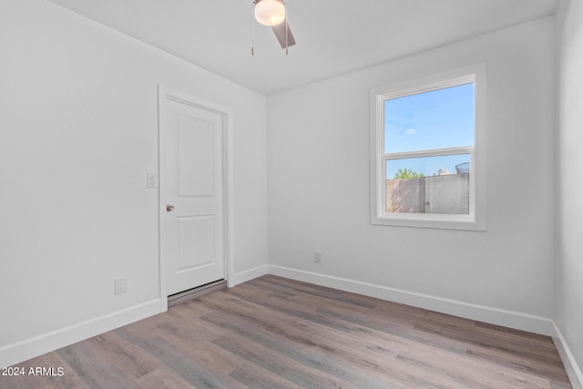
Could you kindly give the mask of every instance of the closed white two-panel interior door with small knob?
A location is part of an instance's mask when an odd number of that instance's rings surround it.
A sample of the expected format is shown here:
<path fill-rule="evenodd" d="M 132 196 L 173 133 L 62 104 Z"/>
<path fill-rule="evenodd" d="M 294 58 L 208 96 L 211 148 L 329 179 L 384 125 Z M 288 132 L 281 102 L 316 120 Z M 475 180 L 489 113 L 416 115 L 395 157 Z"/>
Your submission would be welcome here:
<path fill-rule="evenodd" d="M 160 236 L 166 294 L 224 278 L 223 118 L 160 99 Z"/>

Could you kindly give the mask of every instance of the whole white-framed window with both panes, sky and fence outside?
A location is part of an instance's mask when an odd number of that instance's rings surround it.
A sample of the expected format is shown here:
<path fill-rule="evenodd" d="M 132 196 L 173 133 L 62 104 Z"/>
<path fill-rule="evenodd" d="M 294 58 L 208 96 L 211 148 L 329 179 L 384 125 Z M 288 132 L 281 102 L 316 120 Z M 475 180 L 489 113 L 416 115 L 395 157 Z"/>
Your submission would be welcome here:
<path fill-rule="evenodd" d="M 478 65 L 371 91 L 373 224 L 486 230 Z"/>

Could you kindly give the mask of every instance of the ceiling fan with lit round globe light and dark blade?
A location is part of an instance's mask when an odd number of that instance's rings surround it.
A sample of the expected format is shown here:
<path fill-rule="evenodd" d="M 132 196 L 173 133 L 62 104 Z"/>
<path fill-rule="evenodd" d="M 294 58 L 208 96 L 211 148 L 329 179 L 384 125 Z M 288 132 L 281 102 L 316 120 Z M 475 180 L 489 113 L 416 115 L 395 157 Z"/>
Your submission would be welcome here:
<path fill-rule="evenodd" d="M 271 26 L 281 48 L 284 48 L 285 54 L 288 54 L 288 47 L 295 45 L 295 39 L 288 24 L 287 2 L 285 0 L 253 0 L 253 16 L 261 25 Z M 252 55 L 254 55 L 254 49 L 251 45 Z"/>

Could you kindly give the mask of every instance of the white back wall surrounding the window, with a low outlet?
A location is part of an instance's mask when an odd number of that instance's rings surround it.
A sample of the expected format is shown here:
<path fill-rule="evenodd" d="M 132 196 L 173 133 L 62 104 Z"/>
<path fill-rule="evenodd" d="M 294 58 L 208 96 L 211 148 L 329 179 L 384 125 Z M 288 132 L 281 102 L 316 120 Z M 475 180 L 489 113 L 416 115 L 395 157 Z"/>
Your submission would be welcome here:
<path fill-rule="evenodd" d="M 553 28 L 547 17 L 269 96 L 270 271 L 551 333 Z M 369 90 L 481 62 L 487 231 L 371 225 Z"/>

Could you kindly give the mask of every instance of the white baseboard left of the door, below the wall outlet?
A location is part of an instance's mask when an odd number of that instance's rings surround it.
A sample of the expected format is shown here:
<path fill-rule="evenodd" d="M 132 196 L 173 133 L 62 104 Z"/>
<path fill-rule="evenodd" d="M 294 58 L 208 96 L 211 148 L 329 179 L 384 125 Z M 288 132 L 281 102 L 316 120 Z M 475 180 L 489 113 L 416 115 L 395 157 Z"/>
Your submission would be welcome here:
<path fill-rule="evenodd" d="M 96 336 L 99 333 L 107 333 L 107 331 L 130 322 L 137 322 L 159 312 L 160 300 L 153 300 L 87 322 L 79 322 L 51 333 L 43 333 L 22 342 L 8 344 L 0 348 L 0 367 L 27 361 L 44 353 Z"/>

